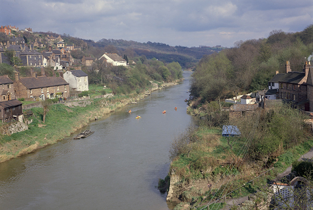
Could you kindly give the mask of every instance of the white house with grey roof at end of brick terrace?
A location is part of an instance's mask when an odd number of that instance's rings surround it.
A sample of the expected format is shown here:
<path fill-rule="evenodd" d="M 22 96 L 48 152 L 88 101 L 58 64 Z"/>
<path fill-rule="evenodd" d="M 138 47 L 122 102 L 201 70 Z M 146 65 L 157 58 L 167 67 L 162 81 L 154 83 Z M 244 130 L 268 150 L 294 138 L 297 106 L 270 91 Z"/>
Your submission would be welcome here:
<path fill-rule="evenodd" d="M 69 88 L 76 91 L 87 91 L 88 75 L 82 70 L 70 70 L 64 73 L 64 80 L 69 83 Z"/>

